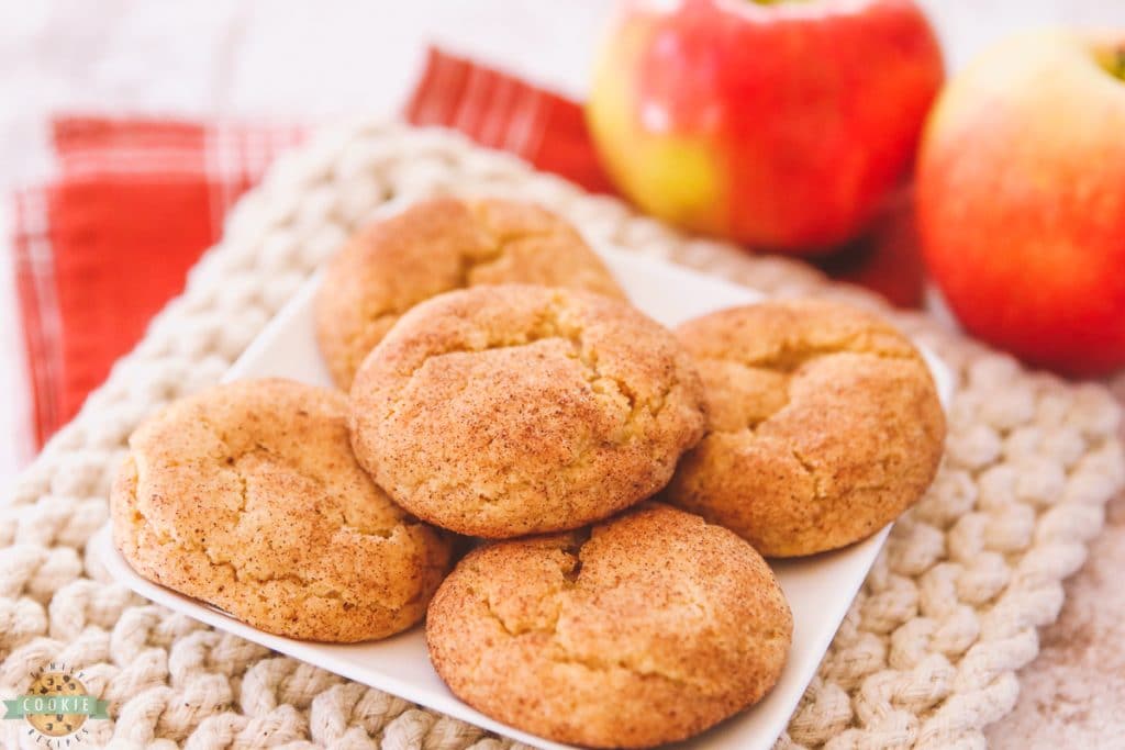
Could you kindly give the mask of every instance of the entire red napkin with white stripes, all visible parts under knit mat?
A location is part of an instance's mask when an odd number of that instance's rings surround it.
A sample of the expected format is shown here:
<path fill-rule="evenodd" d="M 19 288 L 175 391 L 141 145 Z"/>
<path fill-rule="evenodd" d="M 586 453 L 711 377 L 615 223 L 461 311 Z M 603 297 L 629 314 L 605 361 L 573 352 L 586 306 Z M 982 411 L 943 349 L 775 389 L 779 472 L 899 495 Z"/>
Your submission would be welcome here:
<path fill-rule="evenodd" d="M 431 49 L 405 116 L 612 192 L 580 106 L 518 78 Z M 251 124 L 54 123 L 61 174 L 16 196 L 14 243 L 39 444 L 136 344 L 219 237 L 232 204 L 300 135 Z M 888 216 L 874 240 L 835 257 L 831 270 L 915 304 L 921 286 L 912 226 L 902 211 Z"/>

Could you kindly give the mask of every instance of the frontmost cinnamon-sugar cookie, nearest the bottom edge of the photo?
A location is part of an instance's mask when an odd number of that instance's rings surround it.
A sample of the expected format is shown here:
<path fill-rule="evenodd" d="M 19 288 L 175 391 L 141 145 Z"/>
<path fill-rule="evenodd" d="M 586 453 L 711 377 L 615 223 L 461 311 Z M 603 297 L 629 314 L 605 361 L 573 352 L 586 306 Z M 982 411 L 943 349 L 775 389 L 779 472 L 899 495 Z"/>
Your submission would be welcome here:
<path fill-rule="evenodd" d="M 497 542 L 434 595 L 434 668 L 478 711 L 559 742 L 646 748 L 750 706 L 793 618 L 736 534 L 648 503 L 592 533 Z"/>

